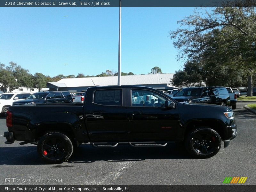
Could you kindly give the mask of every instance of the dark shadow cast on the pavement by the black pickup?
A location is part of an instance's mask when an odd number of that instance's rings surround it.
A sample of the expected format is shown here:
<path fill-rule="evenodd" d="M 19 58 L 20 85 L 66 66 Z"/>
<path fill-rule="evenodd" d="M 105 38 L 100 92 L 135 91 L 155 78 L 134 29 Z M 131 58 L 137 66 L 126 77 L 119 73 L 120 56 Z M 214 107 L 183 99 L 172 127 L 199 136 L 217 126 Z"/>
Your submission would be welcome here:
<path fill-rule="evenodd" d="M 45 164 L 37 155 L 36 146 L 2 147 L 0 154 L 5 154 L 0 165 L 40 165 Z M 82 144 L 68 159 L 70 165 L 77 163 L 93 163 L 95 161 L 124 162 L 144 161 L 146 159 L 190 159 L 180 144 L 168 143 L 166 147 L 130 147 L 120 145 L 115 148 L 94 148 Z"/>

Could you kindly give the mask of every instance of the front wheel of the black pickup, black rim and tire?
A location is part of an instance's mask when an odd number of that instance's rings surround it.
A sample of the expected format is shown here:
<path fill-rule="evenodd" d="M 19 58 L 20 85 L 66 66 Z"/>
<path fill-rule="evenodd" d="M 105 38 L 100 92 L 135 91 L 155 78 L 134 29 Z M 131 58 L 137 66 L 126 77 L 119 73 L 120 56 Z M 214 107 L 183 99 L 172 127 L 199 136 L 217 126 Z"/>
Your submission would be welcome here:
<path fill-rule="evenodd" d="M 188 153 L 197 158 L 210 158 L 216 155 L 221 147 L 218 132 L 209 127 L 199 127 L 188 133 L 185 146 Z"/>

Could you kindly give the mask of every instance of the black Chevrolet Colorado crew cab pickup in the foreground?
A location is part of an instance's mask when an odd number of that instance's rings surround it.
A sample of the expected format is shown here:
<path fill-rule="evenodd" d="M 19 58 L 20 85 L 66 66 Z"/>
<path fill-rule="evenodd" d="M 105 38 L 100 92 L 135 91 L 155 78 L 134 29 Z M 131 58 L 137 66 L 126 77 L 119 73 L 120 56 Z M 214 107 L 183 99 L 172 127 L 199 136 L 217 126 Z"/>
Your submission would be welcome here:
<path fill-rule="evenodd" d="M 231 108 L 180 103 L 153 88 L 107 86 L 87 89 L 84 104 L 32 104 L 9 107 L 5 143 L 37 144 L 47 163 L 68 160 L 75 147 L 166 146 L 184 141 L 188 153 L 209 158 L 221 140 L 236 137 Z"/>

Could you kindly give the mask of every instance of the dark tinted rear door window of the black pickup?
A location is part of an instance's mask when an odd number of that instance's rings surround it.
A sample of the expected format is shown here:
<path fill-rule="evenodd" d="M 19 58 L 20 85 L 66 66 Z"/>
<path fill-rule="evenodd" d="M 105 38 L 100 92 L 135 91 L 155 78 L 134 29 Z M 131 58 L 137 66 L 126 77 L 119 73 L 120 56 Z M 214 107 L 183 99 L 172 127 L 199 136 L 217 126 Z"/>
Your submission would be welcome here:
<path fill-rule="evenodd" d="M 93 102 L 100 105 L 122 105 L 122 89 L 97 90 Z"/>

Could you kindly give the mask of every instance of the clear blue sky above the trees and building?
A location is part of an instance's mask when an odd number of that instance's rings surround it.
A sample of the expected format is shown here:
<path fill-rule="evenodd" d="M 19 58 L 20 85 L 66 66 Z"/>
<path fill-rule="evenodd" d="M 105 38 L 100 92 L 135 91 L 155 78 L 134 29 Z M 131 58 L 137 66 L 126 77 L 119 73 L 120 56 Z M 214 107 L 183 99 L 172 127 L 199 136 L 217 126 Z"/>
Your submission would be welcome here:
<path fill-rule="evenodd" d="M 191 7 L 123 7 L 122 72 L 163 73 L 182 67 L 168 37 Z M 98 75 L 118 69 L 119 8 L 0 8 L 0 63 L 29 73 Z"/>

